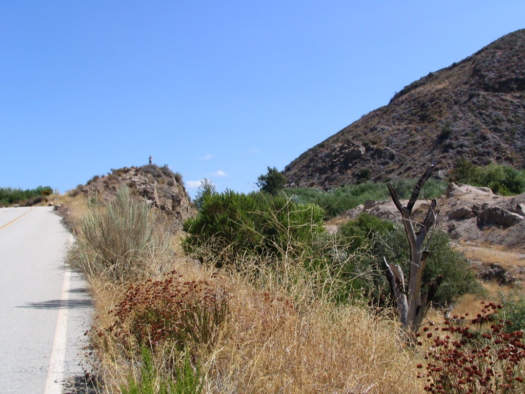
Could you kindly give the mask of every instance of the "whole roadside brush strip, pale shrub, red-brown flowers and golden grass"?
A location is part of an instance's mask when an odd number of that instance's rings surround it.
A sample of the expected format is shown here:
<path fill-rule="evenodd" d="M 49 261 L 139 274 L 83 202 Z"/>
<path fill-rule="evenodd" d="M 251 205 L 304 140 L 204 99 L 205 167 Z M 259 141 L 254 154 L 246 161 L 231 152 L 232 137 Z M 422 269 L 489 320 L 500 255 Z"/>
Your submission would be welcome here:
<path fill-rule="evenodd" d="M 332 302 L 340 284 L 307 254 L 198 264 L 119 195 L 92 206 L 69 255 L 96 308 L 101 392 L 422 392 L 393 314 Z"/>

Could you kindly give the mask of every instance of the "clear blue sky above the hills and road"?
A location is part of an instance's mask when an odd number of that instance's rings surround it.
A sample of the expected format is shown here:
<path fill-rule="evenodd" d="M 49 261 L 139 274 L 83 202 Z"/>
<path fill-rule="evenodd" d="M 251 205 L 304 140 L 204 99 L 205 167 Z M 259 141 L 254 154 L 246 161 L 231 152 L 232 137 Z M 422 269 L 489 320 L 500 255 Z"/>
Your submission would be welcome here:
<path fill-rule="evenodd" d="M 525 2 L 0 1 L 0 186 L 167 164 L 256 190 L 405 85 L 525 27 Z"/>

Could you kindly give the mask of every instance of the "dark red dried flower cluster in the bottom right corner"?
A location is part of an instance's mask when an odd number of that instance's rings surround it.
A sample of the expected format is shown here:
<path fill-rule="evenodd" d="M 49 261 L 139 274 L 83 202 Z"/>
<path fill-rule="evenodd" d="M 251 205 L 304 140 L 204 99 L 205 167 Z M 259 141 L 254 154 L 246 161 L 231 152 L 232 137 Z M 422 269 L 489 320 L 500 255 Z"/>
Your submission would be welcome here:
<path fill-rule="evenodd" d="M 521 393 L 525 390 L 523 332 L 503 332 L 501 305 L 485 304 L 476 318 L 455 315 L 443 327 L 425 326 L 418 345 L 426 345 L 426 367 L 418 378 L 434 393 Z M 468 314 L 465 314 L 468 315 Z M 472 323 L 472 327 L 469 326 Z"/>

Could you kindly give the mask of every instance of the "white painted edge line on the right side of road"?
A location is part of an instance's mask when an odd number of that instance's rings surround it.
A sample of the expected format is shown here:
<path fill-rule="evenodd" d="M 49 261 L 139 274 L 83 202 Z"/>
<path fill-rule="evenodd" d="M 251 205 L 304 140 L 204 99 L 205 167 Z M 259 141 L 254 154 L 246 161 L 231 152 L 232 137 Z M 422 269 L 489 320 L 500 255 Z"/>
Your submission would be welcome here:
<path fill-rule="evenodd" d="M 64 380 L 64 364 L 66 359 L 66 337 L 69 288 L 71 283 L 71 271 L 64 271 L 64 284 L 62 284 L 62 295 L 60 296 L 60 309 L 58 309 L 57 328 L 53 341 L 53 350 L 49 358 L 49 370 L 47 372 L 46 388 L 44 394 L 61 394 L 62 380 Z"/>

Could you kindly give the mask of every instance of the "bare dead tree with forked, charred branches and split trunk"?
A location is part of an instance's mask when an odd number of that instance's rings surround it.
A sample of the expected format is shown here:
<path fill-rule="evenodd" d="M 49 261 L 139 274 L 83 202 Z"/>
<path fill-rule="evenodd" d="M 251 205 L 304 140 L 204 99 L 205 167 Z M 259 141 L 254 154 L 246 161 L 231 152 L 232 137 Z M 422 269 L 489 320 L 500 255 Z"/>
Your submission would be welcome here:
<path fill-rule="evenodd" d="M 439 275 L 428 284 L 427 293 L 424 295 L 421 294 L 421 281 L 423 271 L 425 270 L 426 259 L 429 254 L 428 244 L 436 222 L 436 200 L 432 200 L 430 203 L 423 223 L 416 223 L 411 218 L 412 209 L 421 192 L 421 188 L 435 171 L 436 167 L 433 164 L 426 170 L 423 176 L 419 178 L 406 206 L 401 204 L 392 185 L 390 183 L 386 184 L 392 196 L 392 201 L 401 213 L 403 227 L 406 232 L 408 244 L 410 245 L 410 269 L 408 272 L 407 289 L 405 289 L 405 276 L 401 267 L 397 264 L 388 263 L 384 257 L 383 260 L 388 268 L 386 275 L 394 295 L 398 316 L 406 333 L 412 338 L 414 338 L 414 334 L 417 332 L 419 325 L 421 325 L 428 307 L 442 281 L 442 276 Z"/>

